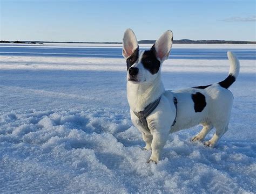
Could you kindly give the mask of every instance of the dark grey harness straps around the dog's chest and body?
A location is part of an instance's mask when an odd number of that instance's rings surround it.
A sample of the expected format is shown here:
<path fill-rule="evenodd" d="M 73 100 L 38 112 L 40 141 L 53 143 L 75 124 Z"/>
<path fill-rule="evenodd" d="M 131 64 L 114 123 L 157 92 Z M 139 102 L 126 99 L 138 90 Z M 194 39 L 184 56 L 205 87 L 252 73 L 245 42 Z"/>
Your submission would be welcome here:
<path fill-rule="evenodd" d="M 149 132 L 150 132 L 150 129 L 149 129 L 149 126 L 147 125 L 147 116 L 149 116 L 149 114 L 151 112 L 153 112 L 154 109 L 156 109 L 157 105 L 160 102 L 160 99 L 161 99 L 161 96 L 158 99 L 156 99 L 154 102 L 147 105 L 143 111 L 140 111 L 140 112 L 134 112 L 133 111 L 134 114 L 139 118 L 140 123 L 142 123 L 144 128 Z M 178 103 L 178 101 L 177 101 L 176 97 L 173 97 L 173 103 L 174 103 L 174 106 L 176 108 L 176 116 L 175 116 L 175 119 L 172 123 L 172 126 L 176 124 L 176 118 L 177 118 L 177 103 Z"/>

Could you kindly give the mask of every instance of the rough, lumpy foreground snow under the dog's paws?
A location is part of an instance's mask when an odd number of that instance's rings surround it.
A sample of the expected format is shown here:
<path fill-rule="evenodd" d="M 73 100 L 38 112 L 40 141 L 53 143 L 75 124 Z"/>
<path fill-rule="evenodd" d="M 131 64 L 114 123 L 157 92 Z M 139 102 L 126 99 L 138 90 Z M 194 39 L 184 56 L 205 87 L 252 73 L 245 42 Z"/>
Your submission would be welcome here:
<path fill-rule="evenodd" d="M 130 119 L 112 110 L 9 113 L 1 124 L 2 192 L 242 193 L 255 185 L 254 142 L 208 148 L 174 134 L 156 165 L 146 163 Z"/>

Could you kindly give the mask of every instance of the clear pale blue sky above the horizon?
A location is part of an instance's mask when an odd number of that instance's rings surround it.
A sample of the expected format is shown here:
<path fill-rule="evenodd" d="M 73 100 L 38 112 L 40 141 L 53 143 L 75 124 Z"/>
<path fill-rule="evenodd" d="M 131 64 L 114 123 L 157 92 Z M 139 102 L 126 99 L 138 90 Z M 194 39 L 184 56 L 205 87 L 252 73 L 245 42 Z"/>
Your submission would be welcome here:
<path fill-rule="evenodd" d="M 174 40 L 255 41 L 256 5 L 248 0 L 62 1 L 0 0 L 1 40 L 122 41 L 172 30 Z"/>

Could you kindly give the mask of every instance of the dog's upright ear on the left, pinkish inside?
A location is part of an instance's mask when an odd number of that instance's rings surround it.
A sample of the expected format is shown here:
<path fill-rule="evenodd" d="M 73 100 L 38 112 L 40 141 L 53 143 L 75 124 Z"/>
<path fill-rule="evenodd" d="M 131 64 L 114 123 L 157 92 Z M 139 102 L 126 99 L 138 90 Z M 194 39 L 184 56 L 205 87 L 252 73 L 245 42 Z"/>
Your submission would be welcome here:
<path fill-rule="evenodd" d="M 129 28 L 124 33 L 123 38 L 123 56 L 125 59 L 129 58 L 133 52 L 139 47 L 138 41 L 134 32 Z"/>

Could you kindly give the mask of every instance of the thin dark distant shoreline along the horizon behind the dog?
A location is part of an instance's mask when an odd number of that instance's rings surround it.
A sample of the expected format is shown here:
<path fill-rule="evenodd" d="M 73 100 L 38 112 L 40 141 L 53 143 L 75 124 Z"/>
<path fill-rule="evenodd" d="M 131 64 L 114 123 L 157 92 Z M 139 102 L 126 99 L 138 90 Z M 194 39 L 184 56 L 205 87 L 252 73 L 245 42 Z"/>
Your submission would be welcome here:
<path fill-rule="evenodd" d="M 139 44 L 154 44 L 156 40 L 140 40 Z M 122 44 L 122 42 L 58 42 L 58 41 L 6 41 L 1 40 L 0 43 L 15 44 L 44 44 L 44 43 L 65 43 L 65 44 Z M 256 41 L 237 41 L 237 40 L 173 40 L 173 44 L 256 44 Z"/>

